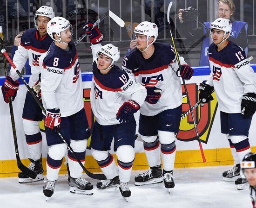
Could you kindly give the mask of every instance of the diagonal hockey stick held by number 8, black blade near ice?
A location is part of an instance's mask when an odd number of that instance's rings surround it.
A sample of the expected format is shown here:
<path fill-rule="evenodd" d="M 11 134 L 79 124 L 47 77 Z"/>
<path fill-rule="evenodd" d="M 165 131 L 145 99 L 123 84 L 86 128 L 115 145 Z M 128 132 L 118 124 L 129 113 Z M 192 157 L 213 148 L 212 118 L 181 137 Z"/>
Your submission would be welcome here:
<path fill-rule="evenodd" d="M 4 54 L 4 56 L 7 58 L 7 60 L 9 61 L 9 63 L 12 65 L 13 69 L 16 69 L 15 64 L 13 63 L 12 59 L 9 57 L 9 55 L 7 54 L 5 49 L 1 50 L 2 54 Z M 16 69 L 16 73 L 20 76 L 22 82 L 24 82 L 25 86 L 27 87 L 28 91 L 30 92 L 30 94 L 32 95 L 32 97 L 34 98 L 34 100 L 36 101 L 36 103 L 39 105 L 39 107 L 41 108 L 41 110 L 43 111 L 43 113 L 46 115 L 46 110 L 43 107 L 42 103 L 38 100 L 38 98 L 36 97 L 36 95 L 33 93 L 32 89 L 29 87 L 29 85 L 27 84 L 26 80 L 24 79 L 24 77 L 20 74 L 20 71 L 18 69 Z M 77 158 L 75 152 L 73 151 L 73 149 L 71 148 L 70 145 L 68 145 L 66 139 L 63 137 L 63 135 L 61 134 L 59 128 L 54 127 L 54 130 L 59 134 L 60 138 L 62 139 L 62 141 L 67 145 L 68 149 L 71 151 L 72 155 L 74 156 L 74 158 L 77 160 L 77 162 L 80 164 L 81 168 L 86 172 L 86 174 L 94 179 L 97 180 L 104 180 L 106 179 L 106 176 L 104 174 L 94 174 L 89 172 L 84 165 L 81 163 L 80 159 Z"/>

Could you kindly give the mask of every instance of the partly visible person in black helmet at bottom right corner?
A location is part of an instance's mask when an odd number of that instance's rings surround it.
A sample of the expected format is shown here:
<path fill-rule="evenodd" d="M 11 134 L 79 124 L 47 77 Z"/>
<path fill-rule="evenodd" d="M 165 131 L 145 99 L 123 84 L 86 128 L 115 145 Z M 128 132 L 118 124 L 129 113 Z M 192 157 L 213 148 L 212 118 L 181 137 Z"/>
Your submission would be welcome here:
<path fill-rule="evenodd" d="M 256 208 L 256 153 L 247 153 L 241 162 L 241 169 L 250 184 L 252 207 Z"/>

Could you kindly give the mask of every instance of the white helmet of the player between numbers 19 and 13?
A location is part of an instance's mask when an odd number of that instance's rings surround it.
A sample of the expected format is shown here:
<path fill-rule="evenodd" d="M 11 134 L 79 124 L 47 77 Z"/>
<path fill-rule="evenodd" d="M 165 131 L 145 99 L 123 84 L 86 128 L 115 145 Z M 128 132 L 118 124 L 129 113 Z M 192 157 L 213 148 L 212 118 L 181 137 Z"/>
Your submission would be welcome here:
<path fill-rule="evenodd" d="M 137 25 L 135 27 L 134 33 L 138 33 L 138 34 L 147 36 L 147 48 L 145 49 L 145 50 L 147 50 L 148 46 L 153 44 L 156 41 L 156 38 L 158 36 L 158 27 L 153 22 L 145 21 L 145 22 L 141 22 L 139 25 Z M 151 44 L 148 44 L 149 38 L 151 36 L 154 36 L 154 40 Z M 145 50 L 143 50 L 143 51 L 145 51 Z"/>

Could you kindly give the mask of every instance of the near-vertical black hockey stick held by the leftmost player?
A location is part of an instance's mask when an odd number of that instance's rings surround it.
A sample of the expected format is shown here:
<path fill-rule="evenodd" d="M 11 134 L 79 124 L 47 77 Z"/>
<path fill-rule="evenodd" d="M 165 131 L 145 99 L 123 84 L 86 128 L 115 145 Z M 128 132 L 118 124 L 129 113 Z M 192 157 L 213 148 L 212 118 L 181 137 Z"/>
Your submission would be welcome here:
<path fill-rule="evenodd" d="M 5 45 L 4 45 L 4 41 L 3 41 L 4 38 L 3 38 L 2 26 L 0 26 L 0 37 L 1 37 L 1 46 L 2 46 L 2 48 L 4 50 Z M 4 61 L 5 77 L 7 77 L 7 75 L 8 75 L 8 72 L 7 72 L 7 61 L 6 61 L 6 57 L 5 56 L 3 56 L 3 61 Z M 34 171 L 28 169 L 24 164 L 21 163 L 21 160 L 20 160 L 20 154 L 19 154 L 19 149 L 18 149 L 18 141 L 17 141 L 17 135 L 16 135 L 16 128 L 15 128 L 15 121 L 14 121 L 14 114 L 13 114 L 12 97 L 9 97 L 9 108 L 10 108 L 10 115 L 11 115 L 12 129 L 13 129 L 13 140 L 14 140 L 14 147 L 15 147 L 17 166 L 27 176 L 35 179 L 37 174 Z"/>

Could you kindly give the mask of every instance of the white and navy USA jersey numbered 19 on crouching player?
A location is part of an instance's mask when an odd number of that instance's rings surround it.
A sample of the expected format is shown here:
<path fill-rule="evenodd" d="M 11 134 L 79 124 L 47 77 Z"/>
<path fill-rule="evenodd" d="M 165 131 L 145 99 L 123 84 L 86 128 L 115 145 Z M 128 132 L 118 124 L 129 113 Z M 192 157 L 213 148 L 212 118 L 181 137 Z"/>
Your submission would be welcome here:
<path fill-rule="evenodd" d="M 120 124 L 116 120 L 119 108 L 128 100 L 134 100 L 141 106 L 147 95 L 146 88 L 129 79 L 128 74 L 117 66 L 102 75 L 96 63 L 101 44 L 92 45 L 91 48 L 94 57 L 90 92 L 92 111 L 97 122 L 103 126 Z"/>

